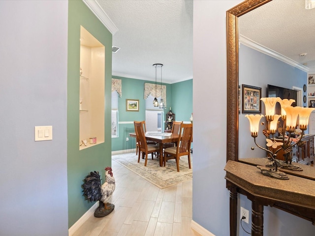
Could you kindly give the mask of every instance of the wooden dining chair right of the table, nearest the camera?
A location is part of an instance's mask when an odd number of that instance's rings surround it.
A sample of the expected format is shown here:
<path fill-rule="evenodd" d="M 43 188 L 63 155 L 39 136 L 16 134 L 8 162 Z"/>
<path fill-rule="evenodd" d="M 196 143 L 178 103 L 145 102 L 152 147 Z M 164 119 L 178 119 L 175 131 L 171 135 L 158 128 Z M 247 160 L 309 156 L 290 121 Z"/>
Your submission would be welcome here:
<path fill-rule="evenodd" d="M 190 145 L 192 139 L 192 124 L 181 124 L 179 131 L 179 139 L 176 147 L 165 148 L 163 152 L 164 166 L 167 160 L 175 159 L 177 171 L 179 172 L 179 158 L 181 156 L 188 156 L 189 169 L 191 169 L 190 164 Z"/>

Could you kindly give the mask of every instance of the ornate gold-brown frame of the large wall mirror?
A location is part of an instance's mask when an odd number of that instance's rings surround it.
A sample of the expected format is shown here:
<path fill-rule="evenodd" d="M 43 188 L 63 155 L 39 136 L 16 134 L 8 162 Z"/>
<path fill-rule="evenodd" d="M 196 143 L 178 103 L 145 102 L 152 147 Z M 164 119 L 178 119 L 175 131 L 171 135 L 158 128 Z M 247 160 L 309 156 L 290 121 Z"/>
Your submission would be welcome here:
<path fill-rule="evenodd" d="M 238 161 L 238 17 L 271 0 L 246 0 L 226 11 L 227 139 L 226 161 Z M 234 102 L 230 102 L 234 101 Z"/>

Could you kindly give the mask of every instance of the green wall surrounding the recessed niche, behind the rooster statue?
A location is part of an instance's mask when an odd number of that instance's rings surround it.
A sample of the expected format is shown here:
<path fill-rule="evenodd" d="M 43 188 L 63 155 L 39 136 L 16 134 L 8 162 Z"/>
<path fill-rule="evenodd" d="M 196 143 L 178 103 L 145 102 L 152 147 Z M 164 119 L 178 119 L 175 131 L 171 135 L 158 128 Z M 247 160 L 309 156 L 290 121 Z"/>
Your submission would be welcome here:
<path fill-rule="evenodd" d="M 79 151 L 79 68 L 80 25 L 105 46 L 105 142 Z M 95 203 L 82 196 L 83 179 L 98 171 L 105 180 L 106 166 L 111 166 L 111 68 L 112 34 L 82 2 L 68 5 L 68 80 L 67 80 L 67 171 L 69 228 Z M 113 170 L 115 175 L 115 170 Z M 58 175 L 58 170 L 56 170 Z"/>

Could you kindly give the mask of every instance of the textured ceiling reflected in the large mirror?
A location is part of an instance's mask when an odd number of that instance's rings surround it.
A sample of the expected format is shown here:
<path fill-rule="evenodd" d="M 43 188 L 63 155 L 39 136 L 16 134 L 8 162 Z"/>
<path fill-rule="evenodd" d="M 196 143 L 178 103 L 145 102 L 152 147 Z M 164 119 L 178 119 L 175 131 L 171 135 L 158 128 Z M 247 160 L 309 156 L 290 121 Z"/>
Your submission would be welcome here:
<path fill-rule="evenodd" d="M 239 17 L 239 33 L 315 69 L 315 8 L 306 10 L 305 0 L 272 0 Z"/>

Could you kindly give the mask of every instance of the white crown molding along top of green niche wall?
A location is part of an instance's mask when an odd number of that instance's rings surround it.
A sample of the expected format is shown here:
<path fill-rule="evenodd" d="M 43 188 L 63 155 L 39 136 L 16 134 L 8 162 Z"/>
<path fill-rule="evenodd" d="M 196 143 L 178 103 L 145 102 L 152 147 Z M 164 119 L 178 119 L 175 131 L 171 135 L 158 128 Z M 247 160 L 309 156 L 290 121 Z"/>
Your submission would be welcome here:
<path fill-rule="evenodd" d="M 108 17 L 103 8 L 99 5 L 96 0 L 82 0 L 93 14 L 100 20 L 100 22 L 114 35 L 118 28 L 115 26 L 114 22 Z"/>

